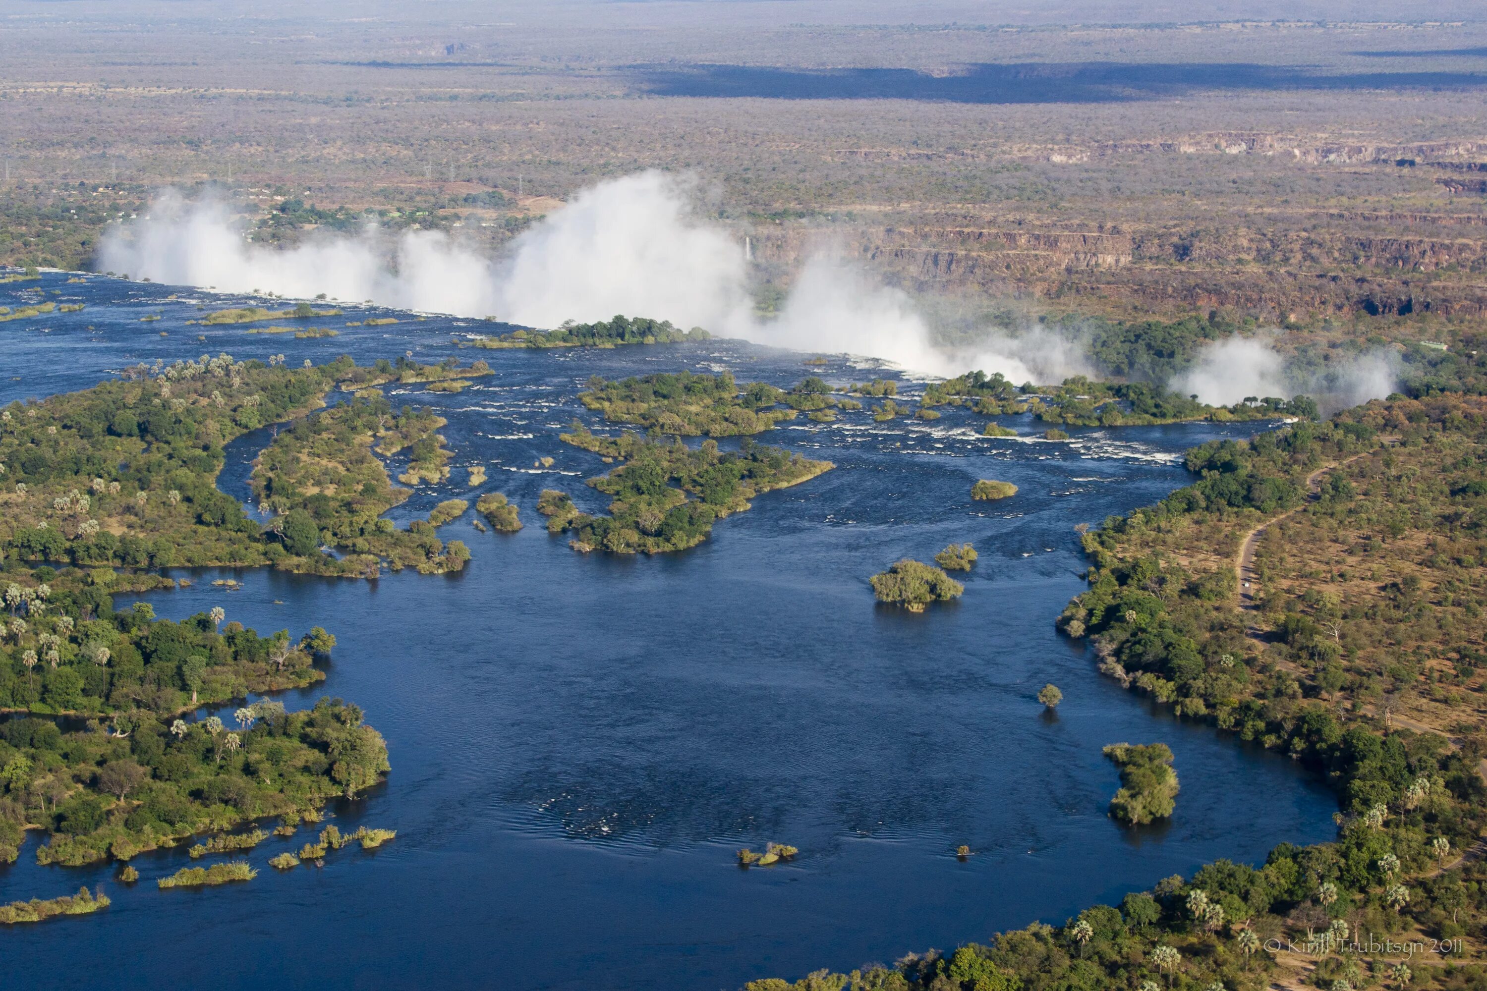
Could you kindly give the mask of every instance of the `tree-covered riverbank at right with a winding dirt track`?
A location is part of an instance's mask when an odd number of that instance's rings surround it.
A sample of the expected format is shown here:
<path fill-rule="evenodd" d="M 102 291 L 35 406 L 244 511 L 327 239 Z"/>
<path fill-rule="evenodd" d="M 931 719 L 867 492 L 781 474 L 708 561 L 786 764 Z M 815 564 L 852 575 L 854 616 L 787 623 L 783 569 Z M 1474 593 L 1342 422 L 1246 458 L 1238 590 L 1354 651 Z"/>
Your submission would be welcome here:
<path fill-rule="evenodd" d="M 1384 447 L 1381 437 L 1395 443 Z M 1367 456 L 1349 461 L 1359 453 Z M 1129 894 L 1120 906 L 1088 908 L 1063 926 L 1033 924 L 952 954 L 912 954 L 892 967 L 818 972 L 794 984 L 755 981 L 748 991 L 1258 991 L 1282 978 L 1280 967 L 1294 966 L 1277 960 L 1268 939 L 1312 955 L 1306 979 L 1320 988 L 1457 991 L 1480 984 L 1475 967 L 1456 966 L 1463 958 L 1459 945 L 1447 945 L 1445 960 L 1436 963 L 1433 955 L 1371 958 L 1347 940 L 1474 940 L 1487 933 L 1487 868 L 1460 856 L 1487 828 L 1487 786 L 1478 774 L 1487 734 L 1433 691 L 1444 678 L 1441 666 L 1416 660 L 1419 648 L 1459 658 L 1444 648 L 1460 645 L 1462 636 L 1471 657 L 1480 655 L 1481 624 L 1453 626 L 1447 617 L 1471 608 L 1483 587 L 1487 403 L 1371 403 L 1248 444 L 1206 444 L 1190 452 L 1190 465 L 1203 475 L 1197 484 L 1086 535 L 1091 585 L 1060 624 L 1093 637 L 1102 670 L 1127 686 L 1323 771 L 1341 805 L 1335 841 L 1280 844 L 1259 868 L 1218 860 L 1191 878 L 1170 877 Z M 1237 536 L 1298 505 L 1306 477 L 1328 465 L 1338 465 L 1341 477 L 1323 478 L 1317 498 L 1286 522 L 1309 527 L 1320 520 L 1325 541 L 1303 539 L 1285 565 L 1273 563 L 1267 587 L 1292 591 L 1277 593 L 1282 603 L 1262 609 L 1274 637 L 1254 639 L 1252 620 L 1234 599 Z M 1410 507 L 1396 538 L 1387 529 L 1396 519 L 1389 516 L 1389 486 L 1414 486 L 1393 493 L 1425 504 Z M 1353 669 L 1367 660 L 1368 645 L 1349 640 L 1349 606 L 1338 614 L 1334 603 L 1323 615 L 1316 609 L 1328 608 L 1325 600 L 1307 599 L 1338 579 L 1343 569 L 1317 572 L 1315 562 L 1340 535 L 1352 538 L 1343 547 L 1361 557 L 1373 541 L 1393 541 L 1387 557 L 1374 556 L 1361 569 L 1373 594 L 1356 606 L 1359 621 L 1373 617 L 1393 627 L 1387 670 L 1377 673 L 1387 682 L 1381 694 Z M 1307 530 L 1289 532 L 1285 541 L 1298 536 Z M 1433 568 L 1433 581 L 1408 582 L 1422 565 Z M 1341 652 L 1307 658 L 1291 640 L 1306 645 L 1303 651 L 1326 640 Z M 1331 678 L 1329 664 L 1340 664 L 1344 676 Z M 1420 719 L 1451 725 L 1460 744 L 1390 725 L 1389 706 L 1404 700 Z M 1166 799 L 1176 780 L 1166 777 L 1166 747 L 1123 747 L 1111 756 L 1126 764 L 1127 801 L 1117 804 L 1133 819 L 1170 808 Z"/>

